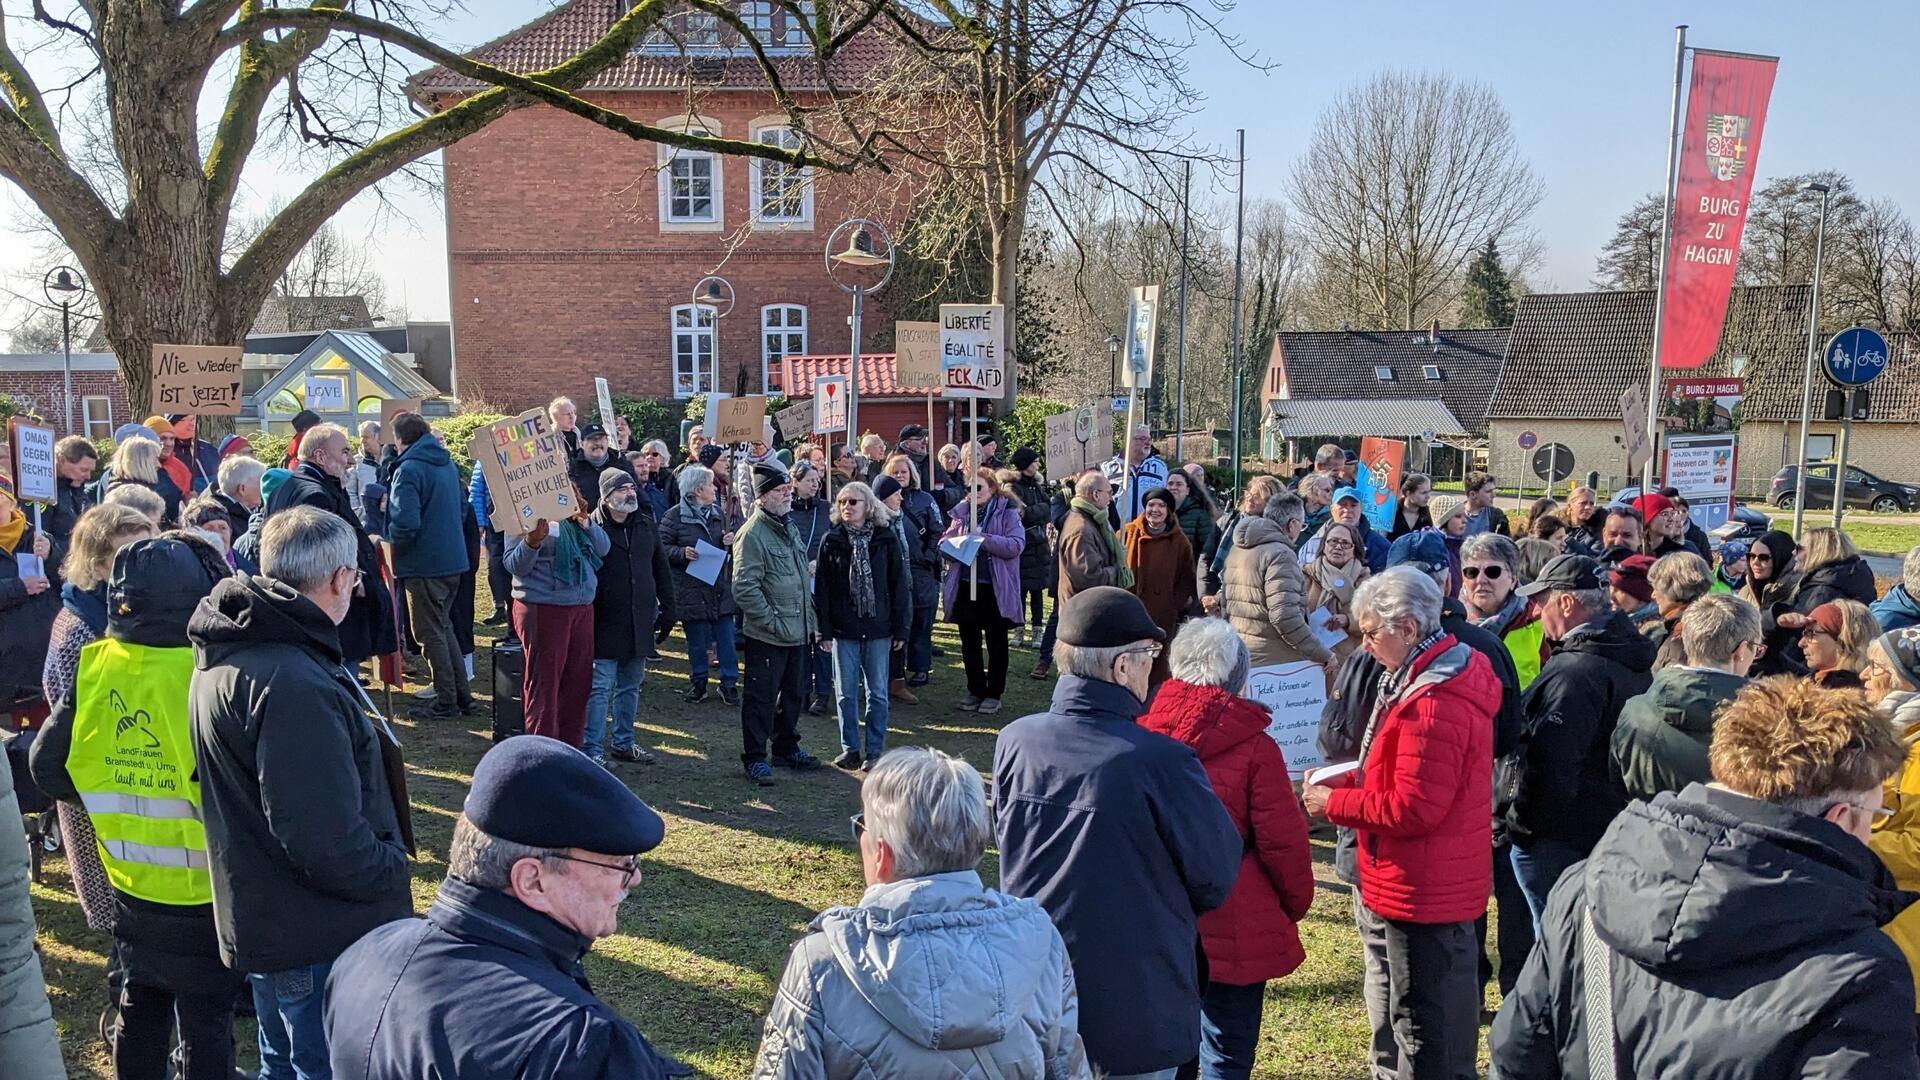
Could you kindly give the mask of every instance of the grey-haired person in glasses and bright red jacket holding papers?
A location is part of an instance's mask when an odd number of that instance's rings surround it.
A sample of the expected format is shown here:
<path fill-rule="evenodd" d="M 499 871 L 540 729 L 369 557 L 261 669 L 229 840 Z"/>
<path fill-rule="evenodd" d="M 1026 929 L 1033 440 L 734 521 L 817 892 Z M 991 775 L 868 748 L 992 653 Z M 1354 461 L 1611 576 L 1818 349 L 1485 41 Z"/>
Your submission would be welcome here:
<path fill-rule="evenodd" d="M 1475 919 L 1494 880 L 1494 705 L 1500 680 L 1440 628 L 1440 588 L 1394 567 L 1354 594 L 1386 669 L 1359 769 L 1300 790 L 1354 830 L 1373 1076 L 1467 1080 L 1478 1042 Z"/>

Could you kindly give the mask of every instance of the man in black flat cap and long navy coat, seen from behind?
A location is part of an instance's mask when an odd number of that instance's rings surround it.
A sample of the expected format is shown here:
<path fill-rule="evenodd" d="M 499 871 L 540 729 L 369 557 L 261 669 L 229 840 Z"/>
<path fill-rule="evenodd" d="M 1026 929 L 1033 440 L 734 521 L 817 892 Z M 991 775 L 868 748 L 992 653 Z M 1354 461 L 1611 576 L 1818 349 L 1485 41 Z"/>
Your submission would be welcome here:
<path fill-rule="evenodd" d="M 1185 744 L 1135 723 L 1165 632 L 1116 586 L 1060 607 L 1052 709 L 993 748 L 1000 888 L 1066 938 L 1087 1057 L 1173 1076 L 1200 1045 L 1196 922 L 1225 903 L 1240 834 Z"/>

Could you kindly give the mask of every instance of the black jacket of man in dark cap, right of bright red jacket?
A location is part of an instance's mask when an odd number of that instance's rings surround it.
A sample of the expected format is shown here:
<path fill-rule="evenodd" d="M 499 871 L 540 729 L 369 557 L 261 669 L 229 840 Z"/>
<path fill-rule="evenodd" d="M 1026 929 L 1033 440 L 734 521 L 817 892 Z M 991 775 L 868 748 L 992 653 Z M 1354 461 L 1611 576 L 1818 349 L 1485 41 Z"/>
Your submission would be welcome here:
<path fill-rule="evenodd" d="M 1613 776 L 1613 726 L 1628 698 L 1653 684 L 1655 646 L 1613 611 L 1553 642 L 1526 688 L 1524 744 L 1494 771 L 1494 811 L 1511 836 L 1592 847 L 1626 792 Z"/>

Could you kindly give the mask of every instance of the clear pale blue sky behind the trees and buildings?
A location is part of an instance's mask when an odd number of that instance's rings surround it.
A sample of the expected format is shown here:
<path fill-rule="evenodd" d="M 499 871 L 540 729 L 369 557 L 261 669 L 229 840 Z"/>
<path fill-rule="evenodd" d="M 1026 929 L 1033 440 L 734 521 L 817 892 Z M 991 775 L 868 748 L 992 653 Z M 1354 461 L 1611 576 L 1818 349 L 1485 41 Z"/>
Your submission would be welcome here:
<path fill-rule="evenodd" d="M 1699 10 L 1705 8 L 1705 10 Z M 1588 288 L 1594 258 L 1613 221 L 1665 169 L 1672 27 L 1692 23 L 1701 48 L 1776 54 L 1772 111 L 1759 177 L 1822 167 L 1847 171 L 1862 196 L 1889 196 L 1920 215 L 1920 150 L 1912 140 L 1914 92 L 1899 46 L 1920 40 L 1920 4 L 1711 4 L 1690 10 L 1653 2 L 1344 2 L 1240 0 L 1225 25 L 1273 63 L 1254 71 L 1202 48 L 1192 81 L 1206 92 L 1194 131 L 1231 148 L 1248 133 L 1248 194 L 1279 196 L 1319 110 L 1342 88 L 1384 67 L 1446 71 L 1488 83 L 1513 113 L 1519 142 L 1546 183 L 1534 217 L 1544 261 L 1536 288 Z M 476 44 L 530 19 L 545 4 L 468 0 L 447 27 Z M 1874 58 L 1872 46 L 1889 46 Z M 1853 58 L 1853 60 L 1845 60 Z M 1864 60 L 1862 60 L 1864 58 Z M 1836 65 L 1860 75 L 1836 79 Z M 1826 71 L 1826 75 L 1820 75 Z M 250 177 L 265 200 L 301 177 Z M 1196 196 L 1202 177 L 1196 175 Z M 1221 190 L 1231 190 L 1231 179 Z M 12 204 L 21 200 L 12 198 Z M 372 200 L 344 211 L 349 236 L 371 236 L 390 271 L 390 294 L 415 317 L 445 317 L 445 233 L 438 200 L 399 198 L 405 219 L 371 227 Z M 0 250 L 23 250 L 6 242 Z M 15 263 L 0 256 L 0 263 Z M 0 269 L 6 269 L 0 265 Z"/>

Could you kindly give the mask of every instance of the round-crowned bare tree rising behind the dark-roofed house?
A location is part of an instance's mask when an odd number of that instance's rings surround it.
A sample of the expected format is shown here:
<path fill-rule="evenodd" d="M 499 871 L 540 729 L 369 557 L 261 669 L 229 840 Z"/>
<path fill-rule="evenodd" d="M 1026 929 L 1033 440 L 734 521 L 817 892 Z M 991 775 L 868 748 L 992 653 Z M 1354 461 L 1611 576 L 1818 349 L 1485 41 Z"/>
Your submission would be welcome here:
<path fill-rule="evenodd" d="M 1526 244 L 1540 196 L 1490 86 L 1407 71 L 1334 100 L 1290 181 L 1321 288 L 1382 329 L 1446 313 L 1488 240 Z"/>

